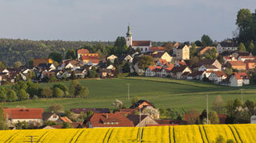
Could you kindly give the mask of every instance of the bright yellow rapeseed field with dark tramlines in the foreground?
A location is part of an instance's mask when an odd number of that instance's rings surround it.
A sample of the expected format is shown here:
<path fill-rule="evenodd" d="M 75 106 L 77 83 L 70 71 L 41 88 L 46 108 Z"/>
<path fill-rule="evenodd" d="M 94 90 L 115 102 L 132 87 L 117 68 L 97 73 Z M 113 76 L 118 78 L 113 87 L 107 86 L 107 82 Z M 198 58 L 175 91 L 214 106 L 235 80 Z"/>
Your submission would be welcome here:
<path fill-rule="evenodd" d="M 0 131 L 2 142 L 140 142 L 140 129 L 99 128 L 99 129 L 24 129 Z M 216 142 L 220 136 L 225 141 L 256 142 L 256 125 L 177 125 L 141 128 L 142 142 Z"/>

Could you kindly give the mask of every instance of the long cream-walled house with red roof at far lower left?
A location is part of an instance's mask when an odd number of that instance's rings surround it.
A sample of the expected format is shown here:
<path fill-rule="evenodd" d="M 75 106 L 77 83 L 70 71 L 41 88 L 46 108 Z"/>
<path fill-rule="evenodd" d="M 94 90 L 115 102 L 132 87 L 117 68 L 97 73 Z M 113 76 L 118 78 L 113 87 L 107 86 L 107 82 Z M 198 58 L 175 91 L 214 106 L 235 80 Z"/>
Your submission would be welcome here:
<path fill-rule="evenodd" d="M 42 123 L 43 108 L 3 108 L 5 118 L 12 124 L 26 121 Z"/>

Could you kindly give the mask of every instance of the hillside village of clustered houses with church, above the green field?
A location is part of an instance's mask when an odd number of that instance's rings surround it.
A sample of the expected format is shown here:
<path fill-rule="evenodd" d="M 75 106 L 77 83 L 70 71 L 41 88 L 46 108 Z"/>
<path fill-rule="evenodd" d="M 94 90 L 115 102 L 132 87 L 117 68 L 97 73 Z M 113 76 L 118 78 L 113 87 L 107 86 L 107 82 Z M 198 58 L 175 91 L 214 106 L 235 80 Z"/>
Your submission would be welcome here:
<path fill-rule="evenodd" d="M 100 58 L 99 53 L 81 48 L 77 50 L 77 59 L 64 59 L 60 63 L 51 58 L 33 59 L 32 67 L 22 65 L 2 69 L 0 82 L 15 83 L 18 79 L 27 78 L 40 83 L 70 77 L 103 79 L 149 76 L 241 87 L 250 84 L 256 67 L 256 57 L 251 52 L 241 50 L 236 39 L 215 43 L 216 47 L 174 43 L 169 53 L 167 47 L 153 47 L 150 40 L 133 40 L 130 27 L 125 40 L 126 46 L 133 50 L 130 54 Z"/>

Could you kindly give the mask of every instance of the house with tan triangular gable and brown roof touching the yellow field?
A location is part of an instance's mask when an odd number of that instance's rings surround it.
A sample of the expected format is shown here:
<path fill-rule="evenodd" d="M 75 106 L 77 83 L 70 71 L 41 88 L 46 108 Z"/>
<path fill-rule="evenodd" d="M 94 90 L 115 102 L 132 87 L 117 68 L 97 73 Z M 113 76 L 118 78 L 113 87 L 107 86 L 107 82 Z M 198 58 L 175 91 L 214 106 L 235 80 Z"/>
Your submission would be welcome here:
<path fill-rule="evenodd" d="M 134 127 L 145 127 L 148 125 L 158 125 L 157 121 L 154 121 L 152 117 L 149 115 L 141 115 L 141 122 L 140 122 L 140 115 L 128 115 L 127 118 L 132 121 Z"/>

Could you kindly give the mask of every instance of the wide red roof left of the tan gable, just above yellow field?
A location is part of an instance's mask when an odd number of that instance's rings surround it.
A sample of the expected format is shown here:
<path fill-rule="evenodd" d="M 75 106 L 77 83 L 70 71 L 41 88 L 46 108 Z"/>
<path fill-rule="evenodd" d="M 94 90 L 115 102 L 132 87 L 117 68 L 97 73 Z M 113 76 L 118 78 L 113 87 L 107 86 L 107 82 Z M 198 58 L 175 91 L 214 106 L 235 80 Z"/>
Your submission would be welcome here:
<path fill-rule="evenodd" d="M 90 123 L 93 127 L 134 127 L 122 113 L 94 113 Z"/>

